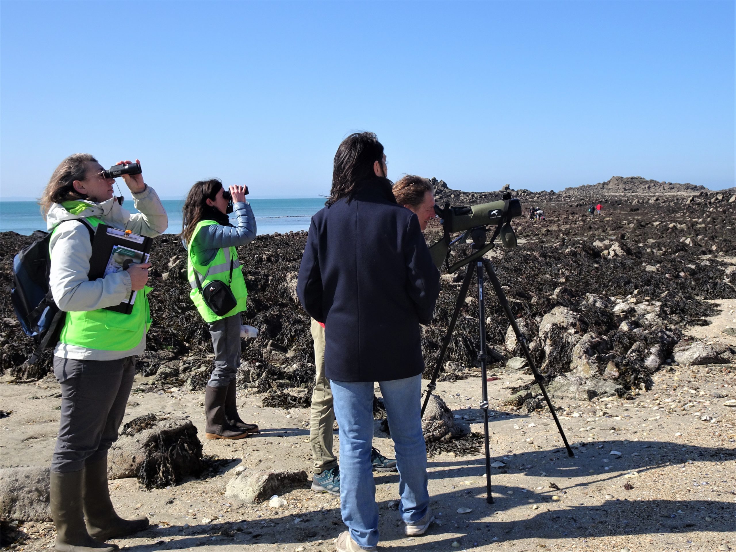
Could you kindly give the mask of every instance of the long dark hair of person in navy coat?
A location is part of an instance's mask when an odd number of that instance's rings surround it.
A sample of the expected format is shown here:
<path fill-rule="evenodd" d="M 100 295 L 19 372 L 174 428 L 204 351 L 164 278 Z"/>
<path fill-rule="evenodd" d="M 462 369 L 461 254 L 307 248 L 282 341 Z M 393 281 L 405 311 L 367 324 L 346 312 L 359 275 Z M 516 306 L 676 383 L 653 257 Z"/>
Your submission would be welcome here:
<path fill-rule="evenodd" d="M 383 146 L 373 132 L 354 132 L 337 148 L 332 169 L 332 189 L 325 205 L 355 197 L 361 183 L 375 179 L 373 163 L 383 166 Z"/>

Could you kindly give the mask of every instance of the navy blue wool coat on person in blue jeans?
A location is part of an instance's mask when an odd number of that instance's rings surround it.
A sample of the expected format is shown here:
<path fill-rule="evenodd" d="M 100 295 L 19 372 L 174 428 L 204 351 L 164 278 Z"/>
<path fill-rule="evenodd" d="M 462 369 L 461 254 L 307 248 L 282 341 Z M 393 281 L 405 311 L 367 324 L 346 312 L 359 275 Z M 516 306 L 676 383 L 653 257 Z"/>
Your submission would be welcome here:
<path fill-rule="evenodd" d="M 439 272 L 389 180 L 369 180 L 355 199 L 312 217 L 297 294 L 325 323 L 328 379 L 390 381 L 424 370 L 420 324 L 432 319 Z"/>

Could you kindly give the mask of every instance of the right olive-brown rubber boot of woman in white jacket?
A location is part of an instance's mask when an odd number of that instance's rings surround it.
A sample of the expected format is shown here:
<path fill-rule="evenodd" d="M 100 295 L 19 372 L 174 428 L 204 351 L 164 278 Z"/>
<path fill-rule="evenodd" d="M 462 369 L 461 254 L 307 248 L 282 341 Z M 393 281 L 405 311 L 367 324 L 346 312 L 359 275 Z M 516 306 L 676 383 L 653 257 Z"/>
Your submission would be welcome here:
<path fill-rule="evenodd" d="M 97 540 L 120 539 L 148 527 L 147 517 L 124 520 L 116 514 L 107 487 L 107 453 L 102 460 L 85 465 L 82 510 L 85 512 L 87 532 Z"/>

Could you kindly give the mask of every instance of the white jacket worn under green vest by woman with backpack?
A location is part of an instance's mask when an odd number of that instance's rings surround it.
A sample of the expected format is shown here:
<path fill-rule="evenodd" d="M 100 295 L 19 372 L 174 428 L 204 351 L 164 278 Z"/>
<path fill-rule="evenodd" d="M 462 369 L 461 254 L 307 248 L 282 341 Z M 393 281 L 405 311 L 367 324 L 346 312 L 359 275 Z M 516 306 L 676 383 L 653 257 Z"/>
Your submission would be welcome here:
<path fill-rule="evenodd" d="M 118 205 L 114 197 L 102 203 L 82 200 L 88 208 L 77 215 L 54 203 L 46 215 L 46 227 L 51 231 L 60 222 L 96 216 L 108 226 L 132 230 L 143 236 L 154 237 L 163 233 L 169 225 L 169 216 L 154 189 L 146 185 L 144 191 L 132 194 L 132 197 L 133 205 L 141 213 L 131 215 Z M 49 249 L 52 252 L 50 288 L 54 302 L 62 311 L 94 311 L 118 305 L 130 294 L 130 275 L 125 271 L 97 280 L 88 279 L 92 244 L 89 231 L 82 222 L 62 224 L 52 236 Z M 141 343 L 127 351 L 105 351 L 59 343 L 54 355 L 77 360 L 110 361 L 140 355 L 144 350 L 145 333 Z"/>

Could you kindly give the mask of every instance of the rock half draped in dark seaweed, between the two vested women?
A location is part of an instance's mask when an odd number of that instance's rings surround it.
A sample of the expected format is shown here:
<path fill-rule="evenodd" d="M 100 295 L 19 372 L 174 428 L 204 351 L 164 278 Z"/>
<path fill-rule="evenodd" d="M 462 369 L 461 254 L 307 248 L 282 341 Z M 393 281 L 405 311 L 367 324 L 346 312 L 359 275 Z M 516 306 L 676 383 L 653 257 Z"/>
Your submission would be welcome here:
<path fill-rule="evenodd" d="M 182 417 L 144 414 L 123 426 L 107 453 L 107 477 L 136 477 L 147 488 L 180 483 L 205 468 L 194 424 Z"/>

